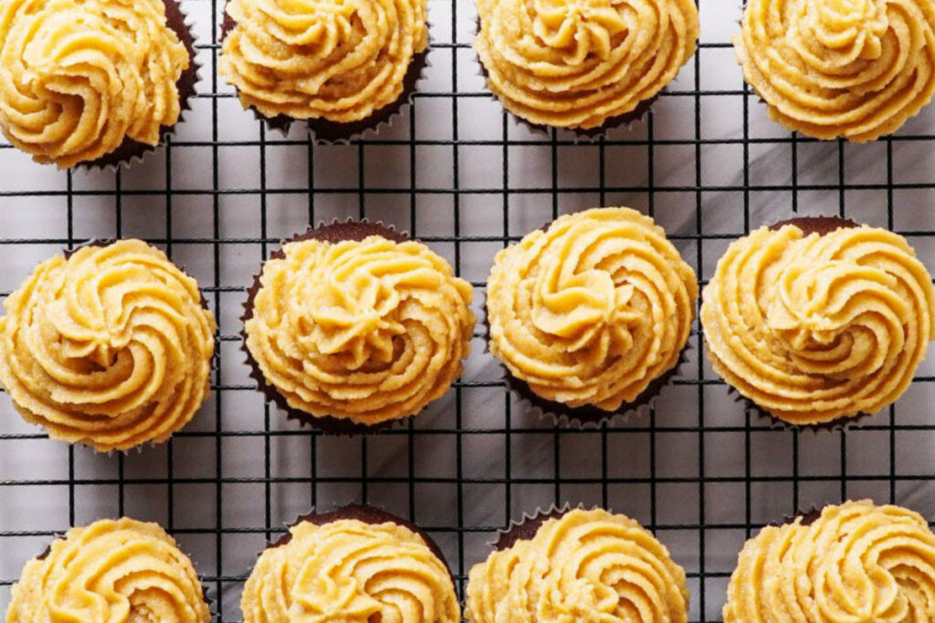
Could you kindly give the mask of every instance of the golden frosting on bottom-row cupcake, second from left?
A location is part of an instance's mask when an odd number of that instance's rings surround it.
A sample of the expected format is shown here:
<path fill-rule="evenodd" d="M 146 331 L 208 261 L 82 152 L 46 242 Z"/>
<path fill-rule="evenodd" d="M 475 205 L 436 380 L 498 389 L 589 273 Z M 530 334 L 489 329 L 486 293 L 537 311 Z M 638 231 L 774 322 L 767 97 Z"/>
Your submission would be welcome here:
<path fill-rule="evenodd" d="M 269 547 L 243 589 L 244 623 L 459 623 L 451 574 L 392 522 L 302 521 Z"/>

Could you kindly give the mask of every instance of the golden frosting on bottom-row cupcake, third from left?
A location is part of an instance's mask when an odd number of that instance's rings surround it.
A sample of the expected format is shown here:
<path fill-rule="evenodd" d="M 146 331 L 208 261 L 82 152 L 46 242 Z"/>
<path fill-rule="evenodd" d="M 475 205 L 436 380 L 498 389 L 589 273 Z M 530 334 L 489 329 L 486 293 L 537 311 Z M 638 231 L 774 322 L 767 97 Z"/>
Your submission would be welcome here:
<path fill-rule="evenodd" d="M 470 623 L 684 623 L 688 589 L 639 523 L 574 510 L 474 565 L 467 610 Z"/>

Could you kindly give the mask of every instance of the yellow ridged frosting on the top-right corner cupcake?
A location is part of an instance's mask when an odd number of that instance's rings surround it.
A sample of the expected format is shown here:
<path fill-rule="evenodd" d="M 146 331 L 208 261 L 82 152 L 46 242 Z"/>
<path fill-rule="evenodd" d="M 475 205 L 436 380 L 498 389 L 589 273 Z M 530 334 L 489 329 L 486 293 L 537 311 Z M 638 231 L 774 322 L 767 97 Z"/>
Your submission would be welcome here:
<path fill-rule="evenodd" d="M 869 141 L 935 94 L 935 2 L 750 0 L 734 49 L 773 120 Z"/>

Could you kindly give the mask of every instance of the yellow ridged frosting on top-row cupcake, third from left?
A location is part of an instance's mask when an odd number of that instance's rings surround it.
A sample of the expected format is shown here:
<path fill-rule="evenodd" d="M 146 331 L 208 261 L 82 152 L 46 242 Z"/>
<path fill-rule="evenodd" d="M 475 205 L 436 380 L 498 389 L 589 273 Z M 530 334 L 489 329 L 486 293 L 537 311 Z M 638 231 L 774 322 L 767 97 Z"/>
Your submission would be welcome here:
<path fill-rule="evenodd" d="M 532 123 L 593 128 L 634 111 L 695 53 L 691 0 L 478 0 L 487 84 Z"/>

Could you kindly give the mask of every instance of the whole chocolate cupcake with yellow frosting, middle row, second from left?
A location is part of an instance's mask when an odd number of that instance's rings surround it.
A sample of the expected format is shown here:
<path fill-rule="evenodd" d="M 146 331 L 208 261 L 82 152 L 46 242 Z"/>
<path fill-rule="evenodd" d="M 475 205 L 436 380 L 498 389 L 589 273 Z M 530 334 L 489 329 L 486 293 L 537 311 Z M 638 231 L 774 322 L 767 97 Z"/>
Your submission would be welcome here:
<path fill-rule="evenodd" d="M 245 305 L 253 377 L 290 418 L 326 432 L 414 416 L 470 352 L 473 290 L 422 243 L 335 222 L 272 254 Z"/>

